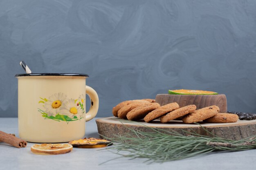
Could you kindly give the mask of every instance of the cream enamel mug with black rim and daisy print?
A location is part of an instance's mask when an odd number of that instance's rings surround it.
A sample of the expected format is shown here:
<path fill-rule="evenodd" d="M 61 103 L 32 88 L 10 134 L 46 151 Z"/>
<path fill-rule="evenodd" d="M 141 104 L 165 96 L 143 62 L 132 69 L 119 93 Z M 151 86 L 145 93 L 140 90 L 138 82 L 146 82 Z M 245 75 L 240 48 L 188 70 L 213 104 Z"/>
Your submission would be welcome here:
<path fill-rule="evenodd" d="M 85 121 L 94 118 L 99 97 L 85 86 L 86 74 L 17 74 L 18 129 L 21 139 L 36 143 L 60 143 L 81 139 Z M 85 94 L 91 99 L 85 111 Z M 86 113 L 86 114 L 85 114 Z"/>

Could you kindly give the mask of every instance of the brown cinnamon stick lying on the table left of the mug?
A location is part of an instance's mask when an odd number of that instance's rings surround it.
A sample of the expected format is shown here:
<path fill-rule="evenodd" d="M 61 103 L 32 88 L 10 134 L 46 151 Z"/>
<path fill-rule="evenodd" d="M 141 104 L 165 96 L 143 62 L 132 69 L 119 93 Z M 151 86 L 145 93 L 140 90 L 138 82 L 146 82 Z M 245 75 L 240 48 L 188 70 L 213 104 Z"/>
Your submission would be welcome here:
<path fill-rule="evenodd" d="M 5 142 L 16 148 L 23 148 L 27 146 L 26 141 L 2 131 L 0 131 L 0 141 Z"/>

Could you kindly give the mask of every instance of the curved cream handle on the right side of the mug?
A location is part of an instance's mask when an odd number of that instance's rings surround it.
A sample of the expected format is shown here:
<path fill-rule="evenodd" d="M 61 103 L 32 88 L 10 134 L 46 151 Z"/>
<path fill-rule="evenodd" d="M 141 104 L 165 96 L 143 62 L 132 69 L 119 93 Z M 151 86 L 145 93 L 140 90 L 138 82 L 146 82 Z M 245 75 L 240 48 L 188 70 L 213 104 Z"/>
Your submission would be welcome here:
<path fill-rule="evenodd" d="M 85 121 L 89 121 L 97 115 L 99 109 L 99 97 L 96 91 L 94 91 L 90 86 L 85 86 L 85 93 L 91 99 L 90 110 L 85 114 Z"/>

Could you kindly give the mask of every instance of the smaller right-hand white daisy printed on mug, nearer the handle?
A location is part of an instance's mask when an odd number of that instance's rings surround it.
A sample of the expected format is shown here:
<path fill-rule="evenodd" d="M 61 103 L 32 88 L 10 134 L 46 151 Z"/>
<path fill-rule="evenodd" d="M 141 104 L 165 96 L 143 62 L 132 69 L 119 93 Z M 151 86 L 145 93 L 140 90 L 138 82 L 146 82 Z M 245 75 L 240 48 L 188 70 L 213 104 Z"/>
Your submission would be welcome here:
<path fill-rule="evenodd" d="M 83 110 L 80 106 L 77 106 L 74 99 L 69 99 L 61 108 L 61 115 L 66 115 L 70 118 L 76 116 L 80 120 L 83 117 Z"/>

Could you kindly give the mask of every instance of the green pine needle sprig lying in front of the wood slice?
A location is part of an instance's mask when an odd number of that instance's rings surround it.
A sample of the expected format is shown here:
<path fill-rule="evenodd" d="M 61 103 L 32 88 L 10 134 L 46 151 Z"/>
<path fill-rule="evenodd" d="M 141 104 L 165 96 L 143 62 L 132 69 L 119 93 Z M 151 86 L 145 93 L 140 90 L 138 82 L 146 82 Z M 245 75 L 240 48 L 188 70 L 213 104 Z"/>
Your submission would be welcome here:
<path fill-rule="evenodd" d="M 115 138 L 108 138 L 101 135 L 107 140 L 118 143 L 107 149 L 121 157 L 146 158 L 150 163 L 185 159 L 213 151 L 240 151 L 256 148 L 256 136 L 234 141 L 217 137 L 203 127 L 214 137 L 199 135 L 196 132 L 189 132 L 190 136 L 184 136 L 177 132 L 151 127 L 147 128 L 153 132 L 134 130 L 127 126 L 126 128 L 128 133 L 123 136 L 116 135 Z"/>

